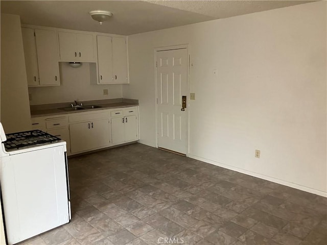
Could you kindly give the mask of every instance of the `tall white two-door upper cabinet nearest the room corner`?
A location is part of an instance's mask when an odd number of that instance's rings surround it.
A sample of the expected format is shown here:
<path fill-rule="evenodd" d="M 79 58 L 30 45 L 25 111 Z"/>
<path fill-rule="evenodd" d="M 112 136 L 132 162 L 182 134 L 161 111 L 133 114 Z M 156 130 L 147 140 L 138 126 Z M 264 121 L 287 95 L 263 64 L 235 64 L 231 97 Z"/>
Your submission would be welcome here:
<path fill-rule="evenodd" d="M 126 39 L 97 36 L 99 84 L 128 83 Z"/>

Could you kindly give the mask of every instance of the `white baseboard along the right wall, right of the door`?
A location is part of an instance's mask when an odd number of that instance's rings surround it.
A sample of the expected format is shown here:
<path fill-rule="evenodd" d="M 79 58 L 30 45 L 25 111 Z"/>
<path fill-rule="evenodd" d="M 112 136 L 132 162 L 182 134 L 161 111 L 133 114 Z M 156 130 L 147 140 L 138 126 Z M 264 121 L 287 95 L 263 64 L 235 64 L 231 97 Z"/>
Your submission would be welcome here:
<path fill-rule="evenodd" d="M 292 187 L 292 188 L 296 188 L 296 189 L 307 191 L 307 192 L 310 192 L 310 193 L 313 193 L 313 194 L 321 195 L 322 197 L 327 197 L 327 192 L 324 192 L 324 191 L 321 191 L 321 190 L 312 189 L 310 187 L 302 186 L 302 185 L 295 184 L 295 183 L 292 183 L 292 182 L 288 182 L 288 181 L 285 181 L 285 180 L 279 180 L 279 179 L 276 179 L 276 178 L 273 178 L 273 177 L 270 177 L 270 176 L 254 173 L 252 171 L 248 171 L 248 170 L 245 170 L 245 169 L 242 169 L 242 168 L 230 166 L 230 165 L 227 165 L 227 164 L 224 164 L 224 163 L 221 163 L 221 162 L 216 162 L 216 161 L 209 160 L 209 159 L 199 157 L 199 156 L 196 156 L 196 155 L 192 155 L 192 154 L 189 154 L 188 157 L 199 160 L 199 161 L 202 161 L 202 162 L 207 162 L 207 163 L 219 166 L 219 167 L 224 167 L 224 168 L 227 168 L 227 169 L 230 169 L 230 170 L 233 170 L 233 171 L 237 171 L 237 172 L 242 173 L 242 174 L 250 175 L 250 176 L 257 177 L 257 178 L 260 178 L 260 179 L 263 179 L 263 180 L 268 180 L 268 181 L 271 181 L 271 182 L 274 182 L 274 183 L 277 183 L 277 184 L 286 185 L 286 186 L 289 186 L 289 187 Z"/>

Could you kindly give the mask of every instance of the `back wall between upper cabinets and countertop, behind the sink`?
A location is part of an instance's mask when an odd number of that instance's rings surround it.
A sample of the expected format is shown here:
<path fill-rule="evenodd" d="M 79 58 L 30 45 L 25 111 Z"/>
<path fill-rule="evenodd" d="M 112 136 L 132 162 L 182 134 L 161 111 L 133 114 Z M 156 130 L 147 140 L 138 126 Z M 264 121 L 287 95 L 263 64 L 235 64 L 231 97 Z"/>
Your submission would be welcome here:
<path fill-rule="evenodd" d="M 92 65 L 95 66 L 95 63 Z M 67 62 L 59 62 L 59 70 L 60 86 L 29 87 L 29 93 L 32 95 L 31 105 L 74 102 L 74 100 L 106 100 L 123 96 L 121 84 L 91 84 L 90 63 L 82 63 L 82 66 L 73 68 Z M 92 80 L 95 79 L 92 77 Z M 108 95 L 103 95 L 103 89 L 108 89 Z"/>

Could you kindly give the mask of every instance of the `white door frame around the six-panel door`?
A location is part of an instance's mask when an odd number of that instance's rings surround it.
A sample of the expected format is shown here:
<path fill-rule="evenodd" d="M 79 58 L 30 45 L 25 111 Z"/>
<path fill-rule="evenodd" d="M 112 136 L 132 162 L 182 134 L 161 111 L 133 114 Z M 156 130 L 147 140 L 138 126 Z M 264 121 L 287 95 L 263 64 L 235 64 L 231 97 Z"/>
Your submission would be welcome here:
<path fill-rule="evenodd" d="M 186 48 L 186 52 L 188 53 L 188 75 L 186 78 L 186 96 L 188 99 L 186 100 L 186 157 L 189 156 L 190 152 L 190 44 L 179 44 L 179 45 L 172 45 L 172 46 L 162 46 L 162 47 L 155 47 L 154 48 L 154 89 L 155 89 L 155 146 L 158 146 L 158 81 L 157 81 L 157 52 L 158 51 L 169 51 L 169 50 L 181 50 Z"/>

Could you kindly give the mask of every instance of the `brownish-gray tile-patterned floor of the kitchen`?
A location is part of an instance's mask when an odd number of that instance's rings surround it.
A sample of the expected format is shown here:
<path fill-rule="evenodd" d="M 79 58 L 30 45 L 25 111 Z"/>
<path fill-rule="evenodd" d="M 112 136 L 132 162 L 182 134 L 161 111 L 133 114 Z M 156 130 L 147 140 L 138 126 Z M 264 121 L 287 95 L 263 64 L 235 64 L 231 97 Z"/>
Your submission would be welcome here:
<path fill-rule="evenodd" d="M 139 143 L 68 159 L 72 220 L 21 244 L 327 244 L 327 199 Z"/>

